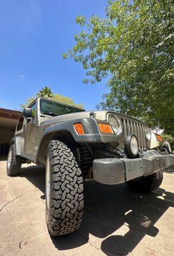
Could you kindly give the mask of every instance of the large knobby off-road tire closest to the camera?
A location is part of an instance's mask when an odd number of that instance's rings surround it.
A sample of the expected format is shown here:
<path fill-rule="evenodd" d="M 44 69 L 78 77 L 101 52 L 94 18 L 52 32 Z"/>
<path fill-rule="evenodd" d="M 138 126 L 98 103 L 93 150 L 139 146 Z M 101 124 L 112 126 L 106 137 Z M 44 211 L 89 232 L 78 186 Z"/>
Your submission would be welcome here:
<path fill-rule="evenodd" d="M 75 154 L 62 141 L 52 140 L 48 145 L 45 195 L 50 235 L 66 235 L 80 227 L 83 215 L 82 172 Z"/>

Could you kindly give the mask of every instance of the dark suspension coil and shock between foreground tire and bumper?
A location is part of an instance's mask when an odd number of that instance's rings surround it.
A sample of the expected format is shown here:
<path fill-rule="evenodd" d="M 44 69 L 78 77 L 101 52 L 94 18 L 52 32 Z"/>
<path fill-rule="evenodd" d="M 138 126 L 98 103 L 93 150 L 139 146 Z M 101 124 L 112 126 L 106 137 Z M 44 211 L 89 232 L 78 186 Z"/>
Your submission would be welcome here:
<path fill-rule="evenodd" d="M 92 152 L 86 144 L 80 146 L 80 165 L 84 175 L 87 175 L 93 161 Z"/>

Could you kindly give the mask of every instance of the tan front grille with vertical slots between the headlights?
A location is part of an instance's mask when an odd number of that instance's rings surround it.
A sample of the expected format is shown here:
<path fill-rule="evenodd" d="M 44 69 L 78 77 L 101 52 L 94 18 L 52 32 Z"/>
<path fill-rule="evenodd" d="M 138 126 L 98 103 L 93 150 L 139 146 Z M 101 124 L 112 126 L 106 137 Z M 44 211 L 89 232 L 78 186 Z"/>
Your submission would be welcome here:
<path fill-rule="evenodd" d="M 143 124 L 122 118 L 124 140 L 127 135 L 134 134 L 138 138 L 139 148 L 146 149 L 145 126 Z"/>

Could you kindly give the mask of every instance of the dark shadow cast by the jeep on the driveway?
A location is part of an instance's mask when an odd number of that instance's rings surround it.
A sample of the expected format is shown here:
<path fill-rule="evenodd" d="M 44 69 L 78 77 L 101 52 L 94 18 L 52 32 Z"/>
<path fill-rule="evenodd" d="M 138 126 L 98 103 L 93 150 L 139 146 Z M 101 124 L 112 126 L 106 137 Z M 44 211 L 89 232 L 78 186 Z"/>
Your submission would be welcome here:
<path fill-rule="evenodd" d="M 45 193 L 43 168 L 22 168 L 21 177 Z M 103 239 L 101 243 L 92 237 L 90 243 L 106 255 L 127 255 L 146 234 L 157 236 L 159 230 L 154 225 L 169 207 L 174 207 L 174 193 L 163 188 L 138 194 L 129 191 L 125 184 L 108 186 L 86 182 L 82 226 L 72 234 L 51 237 L 52 242 L 58 250 L 68 250 L 87 243 L 91 234 Z"/>

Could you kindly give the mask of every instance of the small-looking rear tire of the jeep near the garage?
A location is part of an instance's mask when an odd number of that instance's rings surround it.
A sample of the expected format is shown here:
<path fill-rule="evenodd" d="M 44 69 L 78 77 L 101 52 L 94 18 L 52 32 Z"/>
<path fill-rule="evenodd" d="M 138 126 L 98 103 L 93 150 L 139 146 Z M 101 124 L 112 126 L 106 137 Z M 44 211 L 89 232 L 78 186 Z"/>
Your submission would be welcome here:
<path fill-rule="evenodd" d="M 11 156 L 11 162 L 10 161 Z M 22 165 L 22 157 L 15 155 L 15 145 L 11 145 L 8 152 L 8 159 L 6 163 L 6 173 L 8 176 L 15 176 L 20 172 Z"/>

